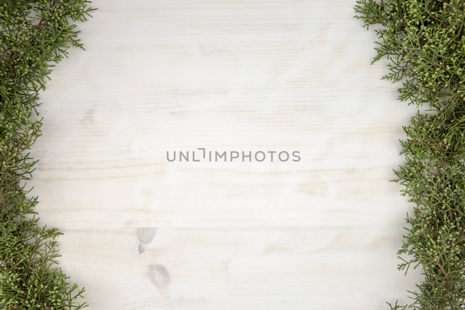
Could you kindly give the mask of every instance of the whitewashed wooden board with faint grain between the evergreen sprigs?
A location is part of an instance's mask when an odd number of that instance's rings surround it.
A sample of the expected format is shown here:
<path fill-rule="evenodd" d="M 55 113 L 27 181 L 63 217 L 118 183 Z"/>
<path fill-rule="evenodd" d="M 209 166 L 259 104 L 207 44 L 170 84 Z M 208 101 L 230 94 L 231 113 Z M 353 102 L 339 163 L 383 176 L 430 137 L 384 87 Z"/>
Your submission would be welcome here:
<path fill-rule="evenodd" d="M 354 0 L 95 0 L 41 96 L 41 223 L 90 310 L 386 309 L 414 107 Z M 298 150 L 300 162 L 166 151 Z"/>

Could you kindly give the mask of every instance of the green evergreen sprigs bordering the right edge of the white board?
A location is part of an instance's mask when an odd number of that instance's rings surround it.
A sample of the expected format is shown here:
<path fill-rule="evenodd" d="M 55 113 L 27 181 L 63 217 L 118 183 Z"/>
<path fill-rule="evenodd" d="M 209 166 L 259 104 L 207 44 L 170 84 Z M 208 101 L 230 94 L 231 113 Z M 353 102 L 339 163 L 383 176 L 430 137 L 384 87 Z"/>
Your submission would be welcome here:
<path fill-rule="evenodd" d="M 390 306 L 463 310 L 465 1 L 360 0 L 355 10 L 367 30 L 379 25 L 373 62 L 389 59 L 384 79 L 401 81 L 399 99 L 428 105 L 404 126 L 407 139 L 399 141 L 406 162 L 394 180 L 413 203 L 398 269 L 420 265 L 425 279 L 409 292 L 411 304 Z"/>

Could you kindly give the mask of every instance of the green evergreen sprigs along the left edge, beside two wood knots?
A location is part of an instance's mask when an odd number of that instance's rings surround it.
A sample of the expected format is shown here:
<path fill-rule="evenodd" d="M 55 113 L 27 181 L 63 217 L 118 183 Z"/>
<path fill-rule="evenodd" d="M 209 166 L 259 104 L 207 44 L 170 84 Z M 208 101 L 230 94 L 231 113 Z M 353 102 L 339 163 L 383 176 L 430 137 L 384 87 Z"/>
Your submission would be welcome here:
<path fill-rule="evenodd" d="M 81 309 L 84 289 L 56 267 L 56 229 L 40 228 L 26 183 L 37 160 L 38 92 L 53 63 L 71 43 L 82 48 L 71 23 L 93 9 L 86 0 L 0 0 L 0 309 Z M 22 184 L 25 182 L 24 184 Z"/>

